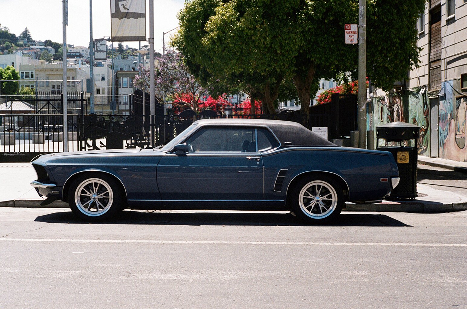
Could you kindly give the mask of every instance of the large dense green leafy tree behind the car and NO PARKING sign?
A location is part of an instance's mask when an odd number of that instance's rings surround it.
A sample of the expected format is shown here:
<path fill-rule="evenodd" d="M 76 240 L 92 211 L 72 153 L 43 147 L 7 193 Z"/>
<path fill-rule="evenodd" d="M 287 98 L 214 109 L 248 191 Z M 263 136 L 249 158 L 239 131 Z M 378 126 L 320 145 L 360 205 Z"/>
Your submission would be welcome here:
<path fill-rule="evenodd" d="M 424 6 L 425 0 L 367 1 L 367 73 L 376 86 L 392 88 L 417 65 L 413 25 Z M 358 46 L 342 37 L 344 24 L 358 21 L 358 0 L 193 0 L 178 17 L 174 44 L 193 74 L 249 86 L 268 109 L 291 78 L 308 117 L 316 81 L 358 67 Z"/>

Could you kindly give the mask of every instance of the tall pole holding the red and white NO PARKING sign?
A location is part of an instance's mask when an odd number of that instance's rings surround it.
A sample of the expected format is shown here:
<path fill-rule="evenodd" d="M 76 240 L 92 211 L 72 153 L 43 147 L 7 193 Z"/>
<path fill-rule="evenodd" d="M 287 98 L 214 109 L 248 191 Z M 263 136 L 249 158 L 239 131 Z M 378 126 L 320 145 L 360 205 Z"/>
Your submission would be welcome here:
<path fill-rule="evenodd" d="M 367 148 L 367 1 L 359 0 L 358 11 L 358 131 L 359 147 Z"/>

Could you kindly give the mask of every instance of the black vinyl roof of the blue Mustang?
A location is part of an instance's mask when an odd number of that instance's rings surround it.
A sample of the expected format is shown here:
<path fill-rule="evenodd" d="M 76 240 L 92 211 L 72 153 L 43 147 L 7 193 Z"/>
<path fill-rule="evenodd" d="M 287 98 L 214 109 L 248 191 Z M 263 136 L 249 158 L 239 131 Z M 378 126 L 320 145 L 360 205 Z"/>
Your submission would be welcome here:
<path fill-rule="evenodd" d="M 303 125 L 292 121 L 267 119 L 203 119 L 195 124 L 199 125 L 245 125 L 266 126 L 276 135 L 282 147 L 290 146 L 337 146 L 327 139 L 311 132 Z"/>

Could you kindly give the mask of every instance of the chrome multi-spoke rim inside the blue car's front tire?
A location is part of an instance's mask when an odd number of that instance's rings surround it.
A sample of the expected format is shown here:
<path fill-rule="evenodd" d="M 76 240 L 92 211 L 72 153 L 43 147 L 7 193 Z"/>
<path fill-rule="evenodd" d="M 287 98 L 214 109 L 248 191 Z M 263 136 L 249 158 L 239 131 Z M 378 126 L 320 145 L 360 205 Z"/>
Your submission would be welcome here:
<path fill-rule="evenodd" d="M 75 204 L 87 216 L 95 217 L 106 213 L 112 203 L 112 188 L 102 179 L 86 179 L 75 190 Z"/>

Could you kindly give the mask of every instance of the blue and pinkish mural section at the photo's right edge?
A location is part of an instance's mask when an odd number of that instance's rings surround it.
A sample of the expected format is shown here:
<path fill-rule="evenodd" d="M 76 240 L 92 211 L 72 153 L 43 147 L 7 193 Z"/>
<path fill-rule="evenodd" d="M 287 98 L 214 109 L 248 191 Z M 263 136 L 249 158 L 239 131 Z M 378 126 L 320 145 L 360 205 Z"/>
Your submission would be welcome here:
<path fill-rule="evenodd" d="M 467 161 L 466 117 L 467 96 L 453 88 L 453 81 L 442 84 L 439 99 L 439 158 Z"/>

